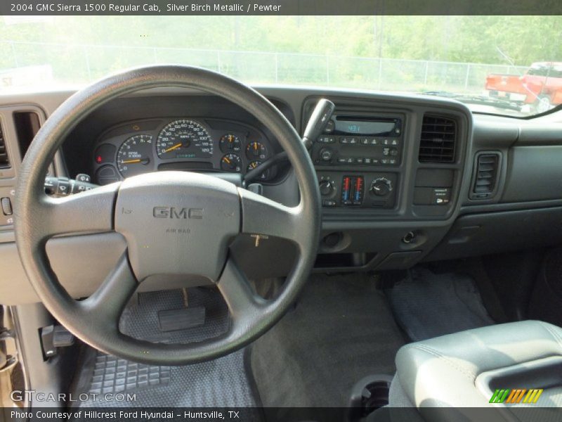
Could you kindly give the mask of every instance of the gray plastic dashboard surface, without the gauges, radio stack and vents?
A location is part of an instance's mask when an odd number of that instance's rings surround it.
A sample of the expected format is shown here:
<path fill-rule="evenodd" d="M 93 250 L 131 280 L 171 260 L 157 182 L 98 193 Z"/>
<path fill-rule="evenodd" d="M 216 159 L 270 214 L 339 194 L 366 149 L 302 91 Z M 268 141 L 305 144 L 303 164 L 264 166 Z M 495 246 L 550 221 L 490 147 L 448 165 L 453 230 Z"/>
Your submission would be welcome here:
<path fill-rule="evenodd" d="M 559 154 L 561 153 L 560 145 L 562 145 L 562 136 L 560 136 L 562 124 L 555 122 L 544 124 L 512 117 L 471 115 L 466 106 L 460 103 L 434 97 L 299 87 L 256 88 L 275 101 L 276 106 L 283 109 L 285 115 L 289 117 L 299 132 L 302 132 L 303 122 L 305 122 L 303 114 L 306 98 L 318 96 L 340 98 L 340 102 L 341 98 L 344 98 L 346 106 L 356 104 L 360 108 L 371 110 L 400 110 L 409 115 L 408 124 L 411 132 L 408 134 L 409 146 L 404 153 L 403 164 L 399 170 L 400 196 L 396 210 L 387 215 L 384 213 L 368 215 L 368 213 L 327 212 L 322 223 L 323 236 L 339 233 L 343 239 L 335 247 L 328 245 L 325 242 L 326 238 L 322 239 L 320 253 L 324 255 L 323 262 L 332 260 L 332 256 L 335 260 L 336 255 L 350 255 L 351 257 L 355 256 L 354 254 L 366 254 L 367 264 L 332 266 L 327 269 L 320 263 L 317 271 L 365 271 L 377 269 L 381 265 L 388 269 L 389 259 L 390 268 L 393 265 L 399 266 L 399 264 L 392 264 L 393 260 L 391 260 L 391 254 L 396 253 L 416 252 L 412 255 L 414 258 L 407 261 L 407 266 L 411 266 L 424 257 L 428 260 L 455 258 L 512 248 L 525 248 L 529 245 L 562 242 L 562 233 L 558 231 L 551 231 L 548 236 L 540 237 L 543 234 L 542 224 L 535 232 L 531 229 L 521 231 L 521 227 L 518 226 L 521 219 L 529 222 L 544 219 L 544 221 L 554 224 L 556 218 L 559 217 L 557 209 L 545 210 L 545 207 L 562 205 L 560 185 L 556 182 L 560 181 L 560 171 L 554 165 L 556 158 L 561 158 Z M 6 96 L 0 98 L 0 107 L 9 107 L 10 110 L 33 107 L 48 116 L 70 94 L 72 92 Z M 142 102 L 139 101 L 140 98 L 150 98 L 150 96 L 169 96 L 171 103 L 177 104 L 181 102 L 181 97 L 195 98 L 201 96 L 201 93 L 184 89 L 152 89 L 128 98 L 131 103 L 140 104 Z M 455 179 L 458 188 L 455 192 L 454 206 L 446 217 L 420 218 L 419 210 L 414 210 L 410 205 L 413 196 L 412 179 L 417 169 L 424 168 L 417 162 L 416 139 L 421 124 L 420 113 L 423 110 L 442 110 L 466 119 L 466 127 L 463 129 L 466 136 L 464 155 L 463 159 L 457 163 L 459 172 Z M 112 112 L 112 110 L 109 111 Z M 185 115 L 185 111 L 180 114 Z M 100 116 L 103 119 L 108 118 L 107 113 Z M 9 114 L 2 118 L 9 119 Z M 105 127 L 110 127 L 115 122 L 107 121 L 105 123 Z M 100 128 L 101 130 L 103 128 Z M 9 147 L 17 148 L 16 142 L 15 133 L 12 132 L 8 139 Z M 540 157 L 544 157 L 545 146 L 553 148 L 551 150 L 553 158 L 546 161 L 546 167 L 528 166 L 526 163 L 530 161 L 544 162 Z M 490 150 L 501 151 L 504 156 L 498 194 L 492 200 L 469 200 L 473 177 L 473 158 L 478 151 Z M 19 158 L 14 164 L 16 170 L 18 160 Z M 67 175 L 64 165 L 60 162 L 57 165 L 57 173 Z M 537 188 L 538 184 L 544 181 L 544 174 L 550 176 L 544 183 L 546 186 Z M 264 186 L 264 192 L 266 196 L 287 205 L 293 205 L 299 199 L 298 187 L 290 170 L 279 183 Z M 525 212 L 512 213 L 516 210 Z M 485 227 L 485 230 L 479 231 L 478 236 L 468 236 L 461 242 L 455 241 L 459 237 L 457 229 L 471 224 Z M 403 237 L 409 231 L 417 234 L 414 243 L 403 242 Z M 519 237 L 516 236 L 518 232 L 521 233 Z M 504 234 L 507 236 L 503 236 Z M 521 239 L 527 241 L 522 242 Z M 453 240 L 452 243 L 450 243 L 451 240 Z M 87 239 L 86 241 L 85 236 L 74 240 L 66 238 L 51 241 L 49 254 L 52 255 L 53 266 L 57 272 L 60 272 L 63 285 L 67 286 L 74 295 L 89 294 L 81 288 L 81 280 L 84 280 L 84 277 L 91 277 L 101 282 L 124 248 L 124 243 L 119 238 L 112 238 L 108 243 L 104 242 L 100 239 L 95 241 Z M 100 243 L 104 244 L 103 248 L 99 248 Z M 247 260 L 249 271 L 252 272 L 252 266 L 256 270 L 253 271 L 253 276 L 266 277 L 286 274 L 292 260 L 291 252 L 287 251 L 283 254 L 283 259 L 280 259 L 278 251 L 284 250 L 284 245 L 277 243 L 276 239 L 270 239 L 267 245 L 267 247 L 256 250 L 251 240 L 240 239 L 236 243 L 236 248 L 237 253 L 240 254 L 240 260 Z M 269 272 L 258 269 L 257 267 L 261 268 L 261 266 L 256 266 L 255 261 L 252 261 L 253 254 L 259 257 L 259 262 L 266 262 L 266 267 L 270 262 L 279 262 L 279 265 L 271 266 Z M 394 256 L 396 257 L 396 255 Z M 96 259 L 93 259 L 94 257 Z M 0 302 L 18 303 L 37 300 L 20 267 L 13 243 L 13 232 L 9 227 L 0 229 L 0 267 L 7 269 L 0 278 Z M 87 274 L 79 271 L 81 267 L 88 270 Z M 171 283 L 171 285 L 173 284 Z M 162 280 L 155 280 L 152 283 L 152 288 L 161 286 L 163 286 Z"/>

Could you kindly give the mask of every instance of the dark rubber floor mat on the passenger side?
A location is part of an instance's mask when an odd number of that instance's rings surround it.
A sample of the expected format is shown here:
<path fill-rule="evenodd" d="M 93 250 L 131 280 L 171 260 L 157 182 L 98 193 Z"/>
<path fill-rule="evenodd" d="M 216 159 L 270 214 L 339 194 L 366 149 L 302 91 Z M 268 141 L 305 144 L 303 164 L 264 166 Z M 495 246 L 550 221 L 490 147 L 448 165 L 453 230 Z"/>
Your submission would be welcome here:
<path fill-rule="evenodd" d="M 470 276 L 414 268 L 386 294 L 412 341 L 495 324 Z"/>

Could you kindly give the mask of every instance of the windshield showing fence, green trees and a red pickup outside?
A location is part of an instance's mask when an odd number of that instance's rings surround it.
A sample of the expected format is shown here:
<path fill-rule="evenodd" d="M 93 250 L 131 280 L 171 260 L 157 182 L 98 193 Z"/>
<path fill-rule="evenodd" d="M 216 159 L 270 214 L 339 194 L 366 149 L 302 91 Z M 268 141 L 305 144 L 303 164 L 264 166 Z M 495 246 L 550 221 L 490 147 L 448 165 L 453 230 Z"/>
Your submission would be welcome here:
<path fill-rule="evenodd" d="M 181 63 L 250 84 L 446 96 L 525 116 L 562 103 L 561 38 L 556 16 L 4 16 L 0 94 Z"/>

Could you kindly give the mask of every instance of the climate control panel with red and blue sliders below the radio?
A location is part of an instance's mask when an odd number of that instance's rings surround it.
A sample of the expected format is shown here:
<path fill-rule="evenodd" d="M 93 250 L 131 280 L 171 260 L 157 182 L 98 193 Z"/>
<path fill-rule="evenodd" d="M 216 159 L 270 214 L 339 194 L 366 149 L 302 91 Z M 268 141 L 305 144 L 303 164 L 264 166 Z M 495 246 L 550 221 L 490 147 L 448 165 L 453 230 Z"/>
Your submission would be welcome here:
<path fill-rule="evenodd" d="M 396 204 L 398 174 L 318 172 L 323 207 L 391 209 Z"/>

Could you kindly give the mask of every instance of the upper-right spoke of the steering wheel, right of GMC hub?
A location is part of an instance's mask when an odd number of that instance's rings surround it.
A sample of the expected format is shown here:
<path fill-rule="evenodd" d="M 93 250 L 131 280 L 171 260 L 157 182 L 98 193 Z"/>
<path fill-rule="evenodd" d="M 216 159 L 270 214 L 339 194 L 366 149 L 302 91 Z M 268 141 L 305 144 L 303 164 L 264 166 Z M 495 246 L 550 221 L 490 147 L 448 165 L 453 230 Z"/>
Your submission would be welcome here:
<path fill-rule="evenodd" d="M 302 207 L 287 207 L 257 193 L 238 189 L 242 207 L 242 233 L 256 237 L 275 236 L 303 244 Z"/>

